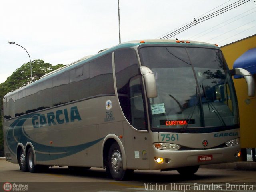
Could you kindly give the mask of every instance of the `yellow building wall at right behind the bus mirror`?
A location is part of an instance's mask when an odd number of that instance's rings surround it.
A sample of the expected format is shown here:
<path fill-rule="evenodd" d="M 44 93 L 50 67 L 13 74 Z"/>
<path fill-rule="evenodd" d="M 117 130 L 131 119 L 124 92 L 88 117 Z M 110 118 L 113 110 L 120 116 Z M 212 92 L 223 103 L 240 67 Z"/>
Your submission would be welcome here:
<path fill-rule="evenodd" d="M 237 63 L 237 61 L 240 62 L 241 60 L 246 60 L 248 58 L 247 54 L 250 53 L 250 58 L 255 57 L 255 60 L 253 59 L 255 66 L 251 65 L 248 67 L 254 67 L 256 70 L 256 34 L 222 46 L 221 50 L 230 69 L 233 68 L 235 61 Z M 242 64 L 244 64 L 244 62 Z M 256 74 L 253 74 L 253 76 L 256 81 Z M 247 84 L 244 78 L 234 79 L 234 85 L 236 88 L 240 114 L 241 148 L 256 148 L 256 97 L 248 97 Z"/>

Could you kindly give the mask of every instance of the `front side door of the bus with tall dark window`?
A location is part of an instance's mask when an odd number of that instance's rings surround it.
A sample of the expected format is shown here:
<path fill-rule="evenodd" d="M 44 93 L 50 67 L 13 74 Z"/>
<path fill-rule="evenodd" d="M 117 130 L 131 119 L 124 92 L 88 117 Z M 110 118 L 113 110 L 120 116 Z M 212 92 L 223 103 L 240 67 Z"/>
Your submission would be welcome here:
<path fill-rule="evenodd" d="M 145 104 L 142 93 L 142 77 L 140 75 L 129 81 L 130 128 L 126 149 L 130 156 L 127 165 L 138 169 L 149 168 L 149 138 L 146 124 Z M 128 145 L 127 145 L 128 144 Z M 128 146 L 128 147 L 127 147 Z"/>

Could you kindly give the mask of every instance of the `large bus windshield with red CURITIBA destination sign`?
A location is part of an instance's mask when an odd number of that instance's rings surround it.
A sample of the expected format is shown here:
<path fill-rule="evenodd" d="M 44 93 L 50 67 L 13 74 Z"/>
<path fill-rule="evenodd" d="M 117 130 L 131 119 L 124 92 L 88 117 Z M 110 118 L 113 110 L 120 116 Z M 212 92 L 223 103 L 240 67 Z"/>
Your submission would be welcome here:
<path fill-rule="evenodd" d="M 219 49 L 145 45 L 139 54 L 156 79 L 158 96 L 149 99 L 153 129 L 238 124 L 234 85 Z"/>

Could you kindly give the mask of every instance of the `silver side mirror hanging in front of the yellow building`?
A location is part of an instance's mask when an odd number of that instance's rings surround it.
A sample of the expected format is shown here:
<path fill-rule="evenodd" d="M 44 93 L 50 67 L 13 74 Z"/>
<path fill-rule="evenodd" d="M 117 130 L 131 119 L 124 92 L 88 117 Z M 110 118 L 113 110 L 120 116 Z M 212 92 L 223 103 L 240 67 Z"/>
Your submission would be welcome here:
<path fill-rule="evenodd" d="M 248 72 L 245 69 L 235 68 L 235 75 L 244 76 L 244 78 L 247 82 L 248 96 L 249 97 L 254 97 L 254 95 L 255 95 L 255 82 L 254 82 L 252 74 L 250 74 L 250 72 Z"/>

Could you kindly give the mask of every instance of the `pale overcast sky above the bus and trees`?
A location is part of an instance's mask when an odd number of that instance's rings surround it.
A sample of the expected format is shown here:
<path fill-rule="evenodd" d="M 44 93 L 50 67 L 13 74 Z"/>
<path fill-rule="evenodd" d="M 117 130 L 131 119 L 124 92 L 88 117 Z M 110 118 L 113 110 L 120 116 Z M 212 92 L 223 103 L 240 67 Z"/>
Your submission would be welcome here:
<path fill-rule="evenodd" d="M 161 38 L 237 1 L 119 0 L 121 42 Z M 256 2 L 247 1 L 175 37 L 223 46 L 252 36 Z M 0 83 L 29 62 L 8 41 L 31 61 L 70 64 L 119 43 L 118 0 L 1 0 Z"/>

